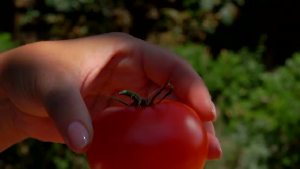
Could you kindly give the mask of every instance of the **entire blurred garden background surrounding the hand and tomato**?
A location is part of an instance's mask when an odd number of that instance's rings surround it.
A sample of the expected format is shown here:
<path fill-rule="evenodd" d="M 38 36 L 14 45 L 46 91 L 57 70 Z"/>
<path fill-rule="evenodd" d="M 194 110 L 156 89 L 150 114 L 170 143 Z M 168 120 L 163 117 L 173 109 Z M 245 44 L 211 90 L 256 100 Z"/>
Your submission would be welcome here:
<path fill-rule="evenodd" d="M 112 31 L 186 58 L 216 103 L 223 158 L 205 168 L 300 168 L 299 1 L 6 0 L 0 52 Z M 25 140 L 0 168 L 88 168 L 66 146 Z"/>

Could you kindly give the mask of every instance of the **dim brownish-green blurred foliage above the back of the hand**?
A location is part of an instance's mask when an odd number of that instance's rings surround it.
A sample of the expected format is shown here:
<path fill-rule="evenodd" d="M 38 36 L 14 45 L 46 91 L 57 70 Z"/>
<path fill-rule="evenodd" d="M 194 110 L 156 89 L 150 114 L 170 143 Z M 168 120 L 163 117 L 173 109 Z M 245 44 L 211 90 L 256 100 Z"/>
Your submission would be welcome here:
<path fill-rule="evenodd" d="M 240 0 L 241 1 L 241 0 Z M 237 3 L 225 0 L 184 0 L 160 3 L 94 0 L 16 1 L 21 14 L 15 22 L 23 43 L 70 39 L 122 31 L 154 43 L 183 44 L 204 41 L 220 24 L 231 25 Z M 234 1 L 236 2 L 236 1 Z M 238 1 L 239 2 L 239 1 Z M 142 19 L 141 19 L 142 18 Z M 30 32 L 31 38 L 24 38 Z M 139 37 L 140 36 L 140 37 Z"/>

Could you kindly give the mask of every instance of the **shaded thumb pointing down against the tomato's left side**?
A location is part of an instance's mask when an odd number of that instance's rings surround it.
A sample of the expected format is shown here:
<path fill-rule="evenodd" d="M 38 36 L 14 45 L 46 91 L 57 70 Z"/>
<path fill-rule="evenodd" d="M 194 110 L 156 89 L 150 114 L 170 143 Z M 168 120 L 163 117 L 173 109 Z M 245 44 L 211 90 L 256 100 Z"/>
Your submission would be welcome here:
<path fill-rule="evenodd" d="M 60 85 L 49 89 L 42 102 L 68 147 L 76 153 L 85 152 L 93 139 L 93 126 L 79 89 Z"/>

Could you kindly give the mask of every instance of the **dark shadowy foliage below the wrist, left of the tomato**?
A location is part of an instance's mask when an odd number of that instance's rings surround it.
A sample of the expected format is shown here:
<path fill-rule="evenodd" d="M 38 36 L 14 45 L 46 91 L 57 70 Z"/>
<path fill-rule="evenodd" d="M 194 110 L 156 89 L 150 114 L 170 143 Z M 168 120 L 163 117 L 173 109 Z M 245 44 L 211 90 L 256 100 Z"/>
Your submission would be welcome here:
<path fill-rule="evenodd" d="M 0 153 L 0 168 L 87 169 L 86 156 L 66 145 L 27 139 Z"/>

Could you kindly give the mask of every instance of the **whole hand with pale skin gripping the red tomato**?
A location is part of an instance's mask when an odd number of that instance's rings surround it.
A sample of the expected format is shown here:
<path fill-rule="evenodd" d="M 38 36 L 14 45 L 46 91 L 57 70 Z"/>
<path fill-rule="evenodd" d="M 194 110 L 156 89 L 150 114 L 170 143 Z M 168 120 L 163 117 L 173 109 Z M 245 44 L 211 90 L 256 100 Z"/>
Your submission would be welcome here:
<path fill-rule="evenodd" d="M 193 108 L 205 122 L 208 159 L 222 156 L 213 121 L 216 109 L 205 83 L 175 53 L 124 33 L 43 41 L 0 53 L 0 152 L 26 138 L 66 143 L 84 153 L 92 120 L 124 106 L 127 89 L 146 97 L 172 78 L 167 99 Z"/>

